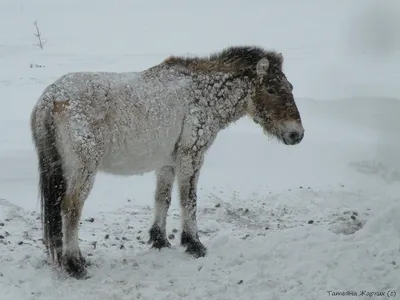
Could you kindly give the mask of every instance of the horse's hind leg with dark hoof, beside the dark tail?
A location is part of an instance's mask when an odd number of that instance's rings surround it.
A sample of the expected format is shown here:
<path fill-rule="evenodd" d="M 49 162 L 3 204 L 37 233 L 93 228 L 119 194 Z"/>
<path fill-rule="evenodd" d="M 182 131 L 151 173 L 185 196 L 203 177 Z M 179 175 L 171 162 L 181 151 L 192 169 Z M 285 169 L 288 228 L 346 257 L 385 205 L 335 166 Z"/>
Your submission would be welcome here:
<path fill-rule="evenodd" d="M 82 126 L 81 126 L 82 127 Z M 63 168 L 67 190 L 61 203 L 63 224 L 63 268 L 75 278 L 83 278 L 87 271 L 79 249 L 79 221 L 83 205 L 92 190 L 99 160 L 103 154 L 101 139 L 87 127 L 69 129 L 63 136 Z"/>

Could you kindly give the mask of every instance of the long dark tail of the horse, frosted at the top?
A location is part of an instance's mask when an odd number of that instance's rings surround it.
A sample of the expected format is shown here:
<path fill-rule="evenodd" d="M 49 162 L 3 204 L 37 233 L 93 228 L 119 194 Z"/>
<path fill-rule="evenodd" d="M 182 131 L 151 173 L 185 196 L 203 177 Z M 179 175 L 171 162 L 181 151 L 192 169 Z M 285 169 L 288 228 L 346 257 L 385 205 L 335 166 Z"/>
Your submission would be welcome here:
<path fill-rule="evenodd" d="M 53 261 L 61 262 L 61 205 L 66 194 L 66 178 L 57 148 L 53 100 L 43 96 L 31 114 L 31 131 L 39 164 L 39 193 L 43 240 Z"/>

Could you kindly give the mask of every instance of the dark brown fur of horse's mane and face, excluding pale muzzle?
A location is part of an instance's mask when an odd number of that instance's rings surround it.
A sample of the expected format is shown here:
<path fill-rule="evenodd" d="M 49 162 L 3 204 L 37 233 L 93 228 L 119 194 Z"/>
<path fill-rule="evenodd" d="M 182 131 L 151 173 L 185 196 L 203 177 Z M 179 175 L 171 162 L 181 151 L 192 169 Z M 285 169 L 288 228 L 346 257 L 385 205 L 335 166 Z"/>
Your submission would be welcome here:
<path fill-rule="evenodd" d="M 259 75 L 256 66 L 264 58 L 267 58 L 269 67 L 266 74 Z M 234 77 L 247 77 L 255 87 L 248 113 L 270 135 L 279 137 L 281 130 L 278 127 L 284 122 L 296 121 L 301 124 L 292 93 L 293 86 L 282 70 L 281 53 L 266 51 L 260 47 L 230 47 L 209 57 L 172 56 L 164 64 L 182 67 L 184 72 L 189 73 L 228 73 Z"/>

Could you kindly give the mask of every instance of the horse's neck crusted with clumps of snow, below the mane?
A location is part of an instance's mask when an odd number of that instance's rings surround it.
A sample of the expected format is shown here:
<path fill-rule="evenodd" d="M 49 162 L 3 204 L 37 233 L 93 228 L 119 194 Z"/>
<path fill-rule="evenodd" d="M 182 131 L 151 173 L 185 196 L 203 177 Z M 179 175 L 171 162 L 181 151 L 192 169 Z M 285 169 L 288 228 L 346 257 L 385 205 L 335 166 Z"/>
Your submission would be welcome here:
<path fill-rule="evenodd" d="M 194 74 L 193 79 L 195 103 L 210 109 L 222 128 L 246 114 L 253 90 L 249 79 L 225 73 Z"/>

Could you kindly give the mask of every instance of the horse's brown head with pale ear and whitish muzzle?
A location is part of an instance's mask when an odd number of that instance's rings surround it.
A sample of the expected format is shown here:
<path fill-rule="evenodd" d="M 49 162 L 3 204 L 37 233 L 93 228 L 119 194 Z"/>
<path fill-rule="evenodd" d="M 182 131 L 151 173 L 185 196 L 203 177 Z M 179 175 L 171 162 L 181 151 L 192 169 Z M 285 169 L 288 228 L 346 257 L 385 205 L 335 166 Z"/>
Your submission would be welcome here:
<path fill-rule="evenodd" d="M 304 136 L 300 113 L 293 97 L 293 86 L 282 71 L 282 54 L 268 53 L 258 61 L 255 91 L 248 113 L 264 132 L 286 145 L 296 145 Z"/>

